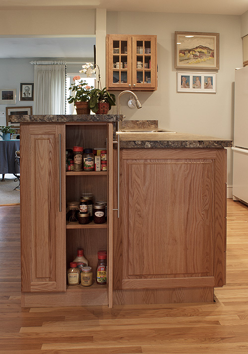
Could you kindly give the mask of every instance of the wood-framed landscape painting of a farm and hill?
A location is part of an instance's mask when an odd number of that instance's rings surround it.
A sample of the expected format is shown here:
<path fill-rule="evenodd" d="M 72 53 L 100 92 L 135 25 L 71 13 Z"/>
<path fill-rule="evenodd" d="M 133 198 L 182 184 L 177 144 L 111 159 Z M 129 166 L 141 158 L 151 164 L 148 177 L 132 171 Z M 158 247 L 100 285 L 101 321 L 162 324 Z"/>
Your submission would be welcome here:
<path fill-rule="evenodd" d="M 175 68 L 219 69 L 219 33 L 175 32 Z"/>

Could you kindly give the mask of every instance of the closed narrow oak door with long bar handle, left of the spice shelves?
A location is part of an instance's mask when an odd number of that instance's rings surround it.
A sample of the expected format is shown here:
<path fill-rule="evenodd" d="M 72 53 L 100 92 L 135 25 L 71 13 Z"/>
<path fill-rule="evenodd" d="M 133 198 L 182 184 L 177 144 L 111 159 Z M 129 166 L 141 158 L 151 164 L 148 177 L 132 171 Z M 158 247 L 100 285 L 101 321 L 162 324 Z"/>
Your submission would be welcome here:
<path fill-rule="evenodd" d="M 21 277 L 23 292 L 65 291 L 65 130 L 22 124 Z"/>

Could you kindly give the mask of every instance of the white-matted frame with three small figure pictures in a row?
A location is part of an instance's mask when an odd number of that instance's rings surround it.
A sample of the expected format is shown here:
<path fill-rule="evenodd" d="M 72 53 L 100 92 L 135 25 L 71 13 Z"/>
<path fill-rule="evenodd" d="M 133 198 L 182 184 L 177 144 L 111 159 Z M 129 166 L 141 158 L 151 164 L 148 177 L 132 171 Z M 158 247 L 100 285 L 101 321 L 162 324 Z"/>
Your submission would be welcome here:
<path fill-rule="evenodd" d="M 177 91 L 216 93 L 216 73 L 177 72 Z"/>

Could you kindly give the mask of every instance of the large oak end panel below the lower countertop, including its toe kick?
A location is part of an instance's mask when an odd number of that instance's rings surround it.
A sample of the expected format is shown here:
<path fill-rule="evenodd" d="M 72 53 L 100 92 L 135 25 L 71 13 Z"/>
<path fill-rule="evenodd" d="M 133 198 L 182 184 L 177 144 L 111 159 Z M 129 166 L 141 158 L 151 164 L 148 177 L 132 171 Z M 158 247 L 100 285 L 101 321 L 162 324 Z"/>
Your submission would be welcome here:
<path fill-rule="evenodd" d="M 213 301 L 225 283 L 225 149 L 121 151 L 114 304 Z"/>

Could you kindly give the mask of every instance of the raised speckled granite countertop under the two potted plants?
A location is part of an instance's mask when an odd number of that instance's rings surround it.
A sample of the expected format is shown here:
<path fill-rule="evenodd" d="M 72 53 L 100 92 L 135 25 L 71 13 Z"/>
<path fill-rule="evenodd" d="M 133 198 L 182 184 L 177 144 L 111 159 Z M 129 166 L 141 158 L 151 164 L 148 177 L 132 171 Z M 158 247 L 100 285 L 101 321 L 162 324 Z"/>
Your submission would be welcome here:
<path fill-rule="evenodd" d="M 11 123 L 66 123 L 66 122 L 118 122 L 123 115 L 117 114 L 53 114 L 53 115 L 13 115 L 8 116 Z"/>

